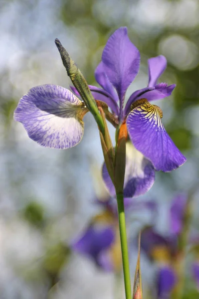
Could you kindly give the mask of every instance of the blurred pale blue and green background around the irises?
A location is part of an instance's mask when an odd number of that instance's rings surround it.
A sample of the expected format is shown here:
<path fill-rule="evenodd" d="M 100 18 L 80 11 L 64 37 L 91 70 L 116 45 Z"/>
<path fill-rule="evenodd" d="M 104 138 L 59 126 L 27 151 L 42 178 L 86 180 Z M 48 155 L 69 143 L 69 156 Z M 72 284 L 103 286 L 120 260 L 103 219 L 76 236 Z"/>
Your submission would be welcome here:
<path fill-rule="evenodd" d="M 77 147 L 53 150 L 31 141 L 13 121 L 13 111 L 33 86 L 69 88 L 56 37 L 87 82 L 96 85 L 94 70 L 103 47 L 120 26 L 128 27 L 141 52 L 140 72 L 127 98 L 147 85 L 147 59 L 166 56 L 168 67 L 160 82 L 177 87 L 157 105 L 167 132 L 188 159 L 172 173 L 156 173 L 154 186 L 142 199 L 159 205 L 156 226 L 164 233 L 172 198 L 194 190 L 192 226 L 199 229 L 199 1 L 1 0 L 0 299 L 113 298 L 114 274 L 68 248 L 99 212 L 93 200 L 102 195 L 103 155 L 93 118 L 85 116 Z M 137 234 L 132 223 L 131 233 Z M 154 266 L 143 261 L 143 284 L 150 288 Z M 136 248 L 131 264 L 133 277 Z M 185 298 L 199 298 L 197 284 L 186 292 Z"/>

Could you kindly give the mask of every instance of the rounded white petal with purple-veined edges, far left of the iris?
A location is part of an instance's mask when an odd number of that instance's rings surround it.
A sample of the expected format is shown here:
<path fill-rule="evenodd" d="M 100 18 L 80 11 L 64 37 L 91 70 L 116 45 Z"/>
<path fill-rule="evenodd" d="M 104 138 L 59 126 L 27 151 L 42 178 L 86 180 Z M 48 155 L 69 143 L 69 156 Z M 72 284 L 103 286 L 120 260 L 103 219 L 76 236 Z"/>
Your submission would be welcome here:
<path fill-rule="evenodd" d="M 83 136 L 82 118 L 87 112 L 69 90 L 52 84 L 31 88 L 19 101 L 14 119 L 28 136 L 43 147 L 68 149 Z"/>

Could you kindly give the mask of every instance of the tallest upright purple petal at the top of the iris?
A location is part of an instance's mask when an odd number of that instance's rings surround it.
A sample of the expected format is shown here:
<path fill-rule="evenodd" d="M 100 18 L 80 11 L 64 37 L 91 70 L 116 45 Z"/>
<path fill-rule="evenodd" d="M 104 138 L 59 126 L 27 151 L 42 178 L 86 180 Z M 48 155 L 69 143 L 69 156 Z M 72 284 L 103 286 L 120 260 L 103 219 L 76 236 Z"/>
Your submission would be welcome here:
<path fill-rule="evenodd" d="M 109 37 L 102 53 L 102 62 L 109 81 L 117 90 L 122 110 L 126 90 L 140 67 L 140 52 L 130 41 L 126 27 L 117 29 Z"/>

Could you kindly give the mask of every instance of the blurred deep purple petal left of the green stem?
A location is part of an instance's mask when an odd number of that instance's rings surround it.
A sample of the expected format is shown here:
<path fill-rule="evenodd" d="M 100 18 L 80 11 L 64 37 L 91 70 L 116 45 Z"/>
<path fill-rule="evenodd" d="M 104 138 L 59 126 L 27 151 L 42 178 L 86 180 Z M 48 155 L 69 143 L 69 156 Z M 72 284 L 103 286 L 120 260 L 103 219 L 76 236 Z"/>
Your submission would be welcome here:
<path fill-rule="evenodd" d="M 115 233 L 112 226 L 99 223 L 91 224 L 75 241 L 71 248 L 81 254 L 91 257 L 97 264 L 101 251 L 109 248 L 114 242 Z"/>

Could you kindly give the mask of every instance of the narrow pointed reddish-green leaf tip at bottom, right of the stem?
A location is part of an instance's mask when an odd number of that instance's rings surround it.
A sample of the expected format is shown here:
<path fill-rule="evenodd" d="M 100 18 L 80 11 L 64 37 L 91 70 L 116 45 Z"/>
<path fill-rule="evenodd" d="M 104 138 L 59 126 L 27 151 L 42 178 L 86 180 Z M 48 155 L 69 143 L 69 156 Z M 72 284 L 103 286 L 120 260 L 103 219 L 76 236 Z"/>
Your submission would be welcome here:
<path fill-rule="evenodd" d="M 139 241 L 138 241 L 138 260 L 137 260 L 134 286 L 133 286 L 133 299 L 143 299 L 142 277 L 140 271 L 140 239 L 141 239 L 141 232 L 139 233 Z"/>

